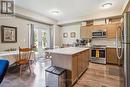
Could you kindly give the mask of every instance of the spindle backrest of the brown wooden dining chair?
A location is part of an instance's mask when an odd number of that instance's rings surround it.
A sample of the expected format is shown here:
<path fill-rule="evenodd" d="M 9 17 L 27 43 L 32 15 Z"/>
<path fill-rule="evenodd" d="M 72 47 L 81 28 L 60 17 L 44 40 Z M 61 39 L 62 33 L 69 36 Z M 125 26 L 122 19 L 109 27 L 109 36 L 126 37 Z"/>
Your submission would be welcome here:
<path fill-rule="evenodd" d="M 32 49 L 31 48 L 20 48 L 19 47 L 19 58 L 18 58 L 18 61 L 19 60 L 30 60 L 30 57 L 31 57 L 31 54 L 32 54 Z"/>

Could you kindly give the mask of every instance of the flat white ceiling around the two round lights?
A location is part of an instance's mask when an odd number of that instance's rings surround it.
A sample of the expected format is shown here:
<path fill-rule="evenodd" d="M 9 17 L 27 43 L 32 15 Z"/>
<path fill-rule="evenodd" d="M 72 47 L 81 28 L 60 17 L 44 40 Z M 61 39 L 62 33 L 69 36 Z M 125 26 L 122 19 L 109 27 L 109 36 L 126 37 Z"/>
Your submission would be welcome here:
<path fill-rule="evenodd" d="M 46 15 L 58 21 L 69 20 L 72 18 L 93 15 L 97 13 L 106 13 L 112 11 L 121 11 L 127 0 L 15 0 L 16 5 Z M 109 9 L 102 9 L 102 4 L 112 3 Z M 58 9 L 62 13 L 54 16 L 50 10 Z"/>

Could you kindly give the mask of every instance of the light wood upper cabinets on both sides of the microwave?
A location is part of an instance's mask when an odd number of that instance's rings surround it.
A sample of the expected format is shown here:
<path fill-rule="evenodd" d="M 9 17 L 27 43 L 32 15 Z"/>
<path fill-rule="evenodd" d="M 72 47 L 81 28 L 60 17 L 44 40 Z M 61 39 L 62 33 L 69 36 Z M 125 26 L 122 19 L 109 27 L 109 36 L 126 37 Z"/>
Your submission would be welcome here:
<path fill-rule="evenodd" d="M 121 17 L 103 20 L 93 20 L 83 22 L 80 28 L 81 38 L 92 38 L 92 32 L 106 31 L 107 38 L 116 38 L 116 33 L 120 36 Z"/>

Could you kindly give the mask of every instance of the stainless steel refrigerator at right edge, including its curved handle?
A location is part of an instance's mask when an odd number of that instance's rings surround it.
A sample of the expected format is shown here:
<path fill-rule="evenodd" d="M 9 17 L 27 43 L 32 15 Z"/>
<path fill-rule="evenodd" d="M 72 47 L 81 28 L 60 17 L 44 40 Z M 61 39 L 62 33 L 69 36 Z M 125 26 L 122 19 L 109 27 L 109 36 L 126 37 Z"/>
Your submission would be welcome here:
<path fill-rule="evenodd" d="M 116 33 L 117 57 L 121 61 L 124 60 L 121 71 L 124 76 L 124 84 L 121 84 L 120 87 L 130 87 L 130 13 L 124 14 L 123 25 L 117 31 L 121 31 L 120 37 Z M 119 48 L 119 43 L 121 44 L 121 49 Z"/>

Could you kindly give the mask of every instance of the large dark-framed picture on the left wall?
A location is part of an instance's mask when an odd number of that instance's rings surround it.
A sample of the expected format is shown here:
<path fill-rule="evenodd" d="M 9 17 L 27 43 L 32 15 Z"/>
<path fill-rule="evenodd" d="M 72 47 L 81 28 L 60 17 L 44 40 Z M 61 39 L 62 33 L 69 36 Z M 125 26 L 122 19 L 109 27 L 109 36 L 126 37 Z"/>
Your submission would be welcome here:
<path fill-rule="evenodd" d="M 17 27 L 1 26 L 1 42 L 16 43 L 17 42 Z"/>

